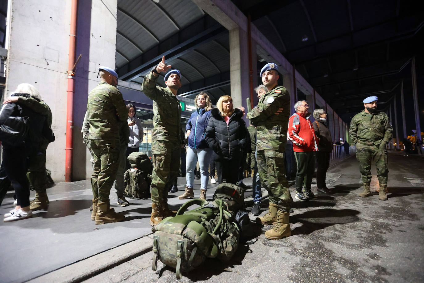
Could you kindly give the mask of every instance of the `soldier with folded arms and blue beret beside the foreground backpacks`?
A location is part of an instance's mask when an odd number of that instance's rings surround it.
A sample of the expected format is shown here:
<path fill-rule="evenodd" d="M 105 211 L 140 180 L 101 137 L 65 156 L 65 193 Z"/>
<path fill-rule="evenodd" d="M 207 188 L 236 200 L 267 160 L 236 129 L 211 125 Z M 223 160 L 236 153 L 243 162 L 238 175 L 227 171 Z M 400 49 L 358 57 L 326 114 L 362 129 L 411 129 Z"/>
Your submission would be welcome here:
<path fill-rule="evenodd" d="M 287 143 L 287 123 L 290 111 L 290 95 L 278 85 L 278 67 L 266 64 L 261 70 L 262 83 L 267 87 L 258 106 L 247 118 L 257 129 L 257 166 L 262 187 L 269 193 L 268 213 L 259 217 L 262 224 L 273 224 L 265 237 L 276 240 L 291 235 L 289 224 L 290 191 L 285 178 L 284 152 Z"/>

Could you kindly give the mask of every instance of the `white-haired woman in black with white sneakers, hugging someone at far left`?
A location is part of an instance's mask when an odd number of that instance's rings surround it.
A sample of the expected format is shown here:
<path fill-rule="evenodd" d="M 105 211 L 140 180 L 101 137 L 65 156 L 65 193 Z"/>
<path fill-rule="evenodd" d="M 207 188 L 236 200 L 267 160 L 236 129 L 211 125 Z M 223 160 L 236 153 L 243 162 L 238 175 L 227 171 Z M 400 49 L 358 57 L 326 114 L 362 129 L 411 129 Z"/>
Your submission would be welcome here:
<path fill-rule="evenodd" d="M 45 141 L 44 139 L 50 140 L 52 136 L 54 137 L 50 126 L 47 124 L 47 115 L 41 114 L 46 113 L 45 105 L 42 104 L 41 100 L 42 98 L 35 87 L 31 84 L 20 84 L 11 96 L 3 102 L 2 112 L 6 108 L 11 109 L 13 107 L 11 113 L 15 117 L 28 118 L 28 133 L 23 135 L 22 142 L 11 143 L 2 135 L 3 162 L 5 163 L 6 174 L 17 197 L 16 207 L 4 215 L 4 222 L 32 216 L 26 177 L 29 159 L 38 154 L 41 144 Z M 0 116 L 2 115 L 5 115 L 5 113 L 0 114 Z"/>

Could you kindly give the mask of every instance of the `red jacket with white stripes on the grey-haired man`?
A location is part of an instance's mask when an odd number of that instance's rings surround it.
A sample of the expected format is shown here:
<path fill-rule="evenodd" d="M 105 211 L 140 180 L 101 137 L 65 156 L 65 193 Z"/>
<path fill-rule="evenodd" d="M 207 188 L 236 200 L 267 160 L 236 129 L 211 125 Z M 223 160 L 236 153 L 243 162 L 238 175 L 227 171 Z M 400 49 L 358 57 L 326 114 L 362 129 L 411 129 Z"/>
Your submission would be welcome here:
<path fill-rule="evenodd" d="M 318 151 L 318 138 L 305 113 L 294 113 L 289 118 L 287 139 L 293 143 L 293 151 Z"/>

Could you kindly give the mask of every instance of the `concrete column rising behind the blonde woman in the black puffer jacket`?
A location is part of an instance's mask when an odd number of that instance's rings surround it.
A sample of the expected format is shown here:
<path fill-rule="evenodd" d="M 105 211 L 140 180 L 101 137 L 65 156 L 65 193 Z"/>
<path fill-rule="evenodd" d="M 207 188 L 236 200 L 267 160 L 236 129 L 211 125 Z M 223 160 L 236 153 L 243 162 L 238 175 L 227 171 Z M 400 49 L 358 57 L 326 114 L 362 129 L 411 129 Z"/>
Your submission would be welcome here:
<path fill-rule="evenodd" d="M 246 98 L 250 97 L 247 32 L 233 28 L 229 36 L 231 97 L 234 107 L 243 106 L 247 109 Z"/>

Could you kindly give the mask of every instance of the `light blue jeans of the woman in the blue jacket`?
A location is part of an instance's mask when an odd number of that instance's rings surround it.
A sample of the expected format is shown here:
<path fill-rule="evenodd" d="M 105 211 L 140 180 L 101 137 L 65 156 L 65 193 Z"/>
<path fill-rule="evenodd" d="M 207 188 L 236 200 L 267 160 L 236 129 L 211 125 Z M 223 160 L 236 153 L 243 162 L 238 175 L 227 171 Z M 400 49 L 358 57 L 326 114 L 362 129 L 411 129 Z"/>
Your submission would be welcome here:
<path fill-rule="evenodd" d="M 196 163 L 199 161 L 200 168 L 200 188 L 202 190 L 208 189 L 209 182 L 209 159 L 212 154 L 212 149 L 192 149 L 190 146 L 187 146 L 187 156 L 186 156 L 186 179 L 187 187 L 193 188 L 194 182 L 194 169 L 196 168 Z"/>

